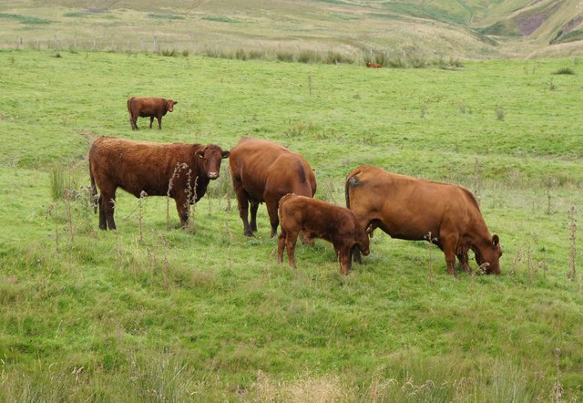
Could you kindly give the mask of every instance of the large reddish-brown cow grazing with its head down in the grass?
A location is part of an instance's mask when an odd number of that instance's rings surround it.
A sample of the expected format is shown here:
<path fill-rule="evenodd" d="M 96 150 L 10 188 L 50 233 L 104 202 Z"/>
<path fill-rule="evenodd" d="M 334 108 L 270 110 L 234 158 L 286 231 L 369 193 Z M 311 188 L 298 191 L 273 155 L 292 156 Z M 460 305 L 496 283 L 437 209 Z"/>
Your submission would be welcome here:
<path fill-rule="evenodd" d="M 392 238 L 431 241 L 445 253 L 447 273 L 452 275 L 455 256 L 465 271 L 471 271 L 467 257 L 471 249 L 487 274 L 500 274 L 500 240 L 488 231 L 470 191 L 368 165 L 348 174 L 345 191 L 346 206 L 371 236 L 378 227 Z M 360 261 L 357 253 L 355 260 Z"/>

